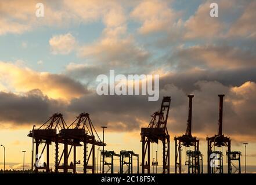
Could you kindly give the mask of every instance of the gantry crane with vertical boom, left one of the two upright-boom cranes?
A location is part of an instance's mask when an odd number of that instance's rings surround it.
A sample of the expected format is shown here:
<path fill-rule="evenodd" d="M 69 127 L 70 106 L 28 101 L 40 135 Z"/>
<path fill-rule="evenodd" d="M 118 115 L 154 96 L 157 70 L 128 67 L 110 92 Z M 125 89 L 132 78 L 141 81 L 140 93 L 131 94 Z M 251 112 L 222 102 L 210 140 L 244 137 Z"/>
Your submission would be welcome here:
<path fill-rule="evenodd" d="M 193 146 L 194 150 L 187 151 L 186 155 L 188 161 L 186 161 L 186 165 L 188 165 L 188 173 L 203 173 L 203 162 L 202 154 L 199 151 L 199 139 L 192 136 L 192 99 L 194 95 L 188 95 L 189 98 L 189 115 L 188 115 L 188 123 L 186 134 L 175 137 L 175 173 L 182 172 L 182 160 L 181 160 L 181 151 L 182 146 L 190 147 Z"/>

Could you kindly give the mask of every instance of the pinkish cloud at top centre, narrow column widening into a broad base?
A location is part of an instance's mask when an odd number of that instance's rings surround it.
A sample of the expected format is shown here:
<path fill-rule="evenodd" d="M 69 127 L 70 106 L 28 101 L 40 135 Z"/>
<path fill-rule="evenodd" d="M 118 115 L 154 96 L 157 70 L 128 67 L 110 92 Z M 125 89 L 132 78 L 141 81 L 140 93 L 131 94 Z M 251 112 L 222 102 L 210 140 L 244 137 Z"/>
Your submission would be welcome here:
<path fill-rule="evenodd" d="M 102 35 L 92 44 L 81 46 L 78 56 L 108 69 L 127 69 L 147 61 L 149 53 L 127 33 L 127 19 L 122 6 L 110 1 L 103 7 L 101 16 L 105 28 Z"/>

